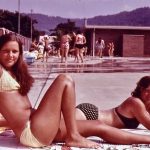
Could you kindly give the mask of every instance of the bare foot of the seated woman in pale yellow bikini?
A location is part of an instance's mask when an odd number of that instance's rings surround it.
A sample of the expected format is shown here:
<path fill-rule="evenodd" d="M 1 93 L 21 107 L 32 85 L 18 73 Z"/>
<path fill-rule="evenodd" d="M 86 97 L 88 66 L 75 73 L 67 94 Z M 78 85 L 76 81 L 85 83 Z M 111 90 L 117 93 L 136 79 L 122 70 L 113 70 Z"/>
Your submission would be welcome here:
<path fill-rule="evenodd" d="M 66 139 L 66 145 L 70 147 L 79 147 L 79 148 L 94 148 L 97 149 L 100 145 L 96 142 L 88 140 L 80 135 L 75 135 L 72 138 Z"/>

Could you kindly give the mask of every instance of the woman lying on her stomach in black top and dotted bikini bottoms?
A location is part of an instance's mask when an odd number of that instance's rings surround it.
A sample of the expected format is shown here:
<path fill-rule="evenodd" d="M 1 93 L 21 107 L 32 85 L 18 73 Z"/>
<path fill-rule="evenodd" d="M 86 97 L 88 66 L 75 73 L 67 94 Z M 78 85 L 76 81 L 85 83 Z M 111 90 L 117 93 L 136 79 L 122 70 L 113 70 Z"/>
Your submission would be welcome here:
<path fill-rule="evenodd" d="M 76 108 L 77 119 L 100 120 L 109 126 L 127 129 L 135 129 L 142 124 L 150 129 L 150 76 L 142 77 L 131 97 L 115 108 L 98 110 L 97 106 L 89 103 L 79 104 Z"/>

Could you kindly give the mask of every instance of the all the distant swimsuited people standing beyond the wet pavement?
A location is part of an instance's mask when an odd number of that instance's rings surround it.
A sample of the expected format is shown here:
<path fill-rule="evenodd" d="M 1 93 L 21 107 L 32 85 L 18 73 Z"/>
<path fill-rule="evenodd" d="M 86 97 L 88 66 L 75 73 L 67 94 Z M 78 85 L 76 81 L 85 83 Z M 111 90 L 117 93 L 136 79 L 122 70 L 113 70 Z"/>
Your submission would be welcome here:
<path fill-rule="evenodd" d="M 41 44 L 42 43 L 42 44 Z M 44 36 L 40 43 L 37 43 L 35 39 L 33 39 L 30 52 L 35 52 L 38 55 L 39 49 L 42 46 L 42 62 L 48 60 L 49 52 L 50 52 L 50 42 L 48 36 Z M 96 56 L 100 58 L 103 57 L 104 49 L 107 47 L 108 55 L 110 57 L 114 56 L 114 43 L 109 42 L 107 46 L 105 46 L 105 41 L 99 37 L 95 43 L 95 52 Z M 39 52 L 41 53 L 41 52 Z M 81 30 L 78 30 L 77 33 L 69 33 L 67 30 L 64 31 L 63 35 L 60 39 L 60 47 L 58 49 L 58 55 L 61 57 L 61 63 L 67 62 L 69 54 L 75 57 L 75 62 L 83 63 L 84 62 L 84 55 L 87 53 L 87 40 L 85 35 Z M 38 57 L 38 56 L 37 56 Z"/>

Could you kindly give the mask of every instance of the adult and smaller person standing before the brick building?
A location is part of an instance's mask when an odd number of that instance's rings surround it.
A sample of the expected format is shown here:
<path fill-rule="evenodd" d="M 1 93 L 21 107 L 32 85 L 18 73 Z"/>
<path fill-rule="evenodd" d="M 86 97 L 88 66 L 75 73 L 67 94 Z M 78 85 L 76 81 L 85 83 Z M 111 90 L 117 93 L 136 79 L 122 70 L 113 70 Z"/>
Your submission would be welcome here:
<path fill-rule="evenodd" d="M 103 53 L 104 53 L 104 49 L 105 49 L 105 41 L 101 37 L 99 37 L 95 43 L 96 55 L 99 56 L 100 58 L 102 58 Z M 113 57 L 114 56 L 114 43 L 109 42 L 107 44 L 107 49 L 108 49 L 109 57 Z"/>

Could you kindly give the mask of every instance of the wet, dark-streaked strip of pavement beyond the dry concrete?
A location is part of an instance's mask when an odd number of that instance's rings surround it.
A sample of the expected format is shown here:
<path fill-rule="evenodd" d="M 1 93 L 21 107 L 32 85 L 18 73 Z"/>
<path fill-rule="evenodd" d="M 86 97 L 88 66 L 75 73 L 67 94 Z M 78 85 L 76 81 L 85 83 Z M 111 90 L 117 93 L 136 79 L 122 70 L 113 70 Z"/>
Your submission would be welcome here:
<path fill-rule="evenodd" d="M 85 62 L 75 63 L 74 58 L 69 58 L 68 63 L 60 63 L 60 58 L 51 57 L 48 63 L 42 63 L 39 60 L 31 66 L 40 65 L 46 69 L 53 68 L 54 73 L 110 73 L 110 72 L 145 72 L 149 71 L 150 58 L 132 58 L 132 57 L 87 57 Z"/>

